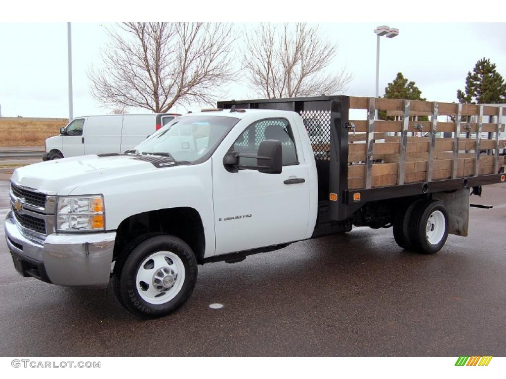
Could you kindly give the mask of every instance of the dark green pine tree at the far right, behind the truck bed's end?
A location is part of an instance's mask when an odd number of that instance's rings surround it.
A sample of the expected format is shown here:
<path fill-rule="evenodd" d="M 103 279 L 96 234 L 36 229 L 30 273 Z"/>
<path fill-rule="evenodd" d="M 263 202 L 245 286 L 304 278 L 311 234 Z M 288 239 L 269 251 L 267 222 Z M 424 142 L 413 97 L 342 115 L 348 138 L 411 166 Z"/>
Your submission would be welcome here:
<path fill-rule="evenodd" d="M 457 99 L 460 103 L 506 103 L 506 83 L 496 71 L 495 64 L 490 63 L 490 59 L 480 59 L 473 73 L 468 72 L 465 90 L 466 93 L 457 90 Z"/>

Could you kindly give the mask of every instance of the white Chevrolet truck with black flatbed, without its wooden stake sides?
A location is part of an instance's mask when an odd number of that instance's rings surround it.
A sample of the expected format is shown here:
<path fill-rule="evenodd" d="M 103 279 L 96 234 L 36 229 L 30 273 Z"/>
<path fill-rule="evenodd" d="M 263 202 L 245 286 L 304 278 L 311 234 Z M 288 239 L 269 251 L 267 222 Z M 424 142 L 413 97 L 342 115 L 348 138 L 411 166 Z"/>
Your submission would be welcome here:
<path fill-rule="evenodd" d="M 187 301 L 197 264 L 238 262 L 352 225 L 394 226 L 401 247 L 435 253 L 448 232 L 467 233 L 468 188 L 504 181 L 494 166 L 481 176 L 348 188 L 358 167 L 348 149 L 360 150 L 348 144 L 350 98 L 219 107 L 175 119 L 128 154 L 16 169 L 5 222 L 16 269 L 63 286 L 106 287 L 112 277 L 124 307 L 158 317 Z M 304 117 L 328 124 L 326 144 L 312 143 Z M 378 159 L 362 159 L 367 178 Z"/>

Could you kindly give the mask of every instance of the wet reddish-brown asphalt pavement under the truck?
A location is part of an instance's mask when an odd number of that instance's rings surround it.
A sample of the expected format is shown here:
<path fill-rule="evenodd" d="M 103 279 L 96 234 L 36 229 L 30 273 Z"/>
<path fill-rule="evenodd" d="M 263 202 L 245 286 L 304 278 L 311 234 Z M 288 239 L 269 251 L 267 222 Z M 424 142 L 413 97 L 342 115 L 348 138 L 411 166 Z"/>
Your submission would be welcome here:
<path fill-rule="evenodd" d="M 149 321 L 111 286 L 21 277 L 5 243 L 8 189 L 0 181 L 2 356 L 506 355 L 506 185 L 473 197 L 493 209 L 472 208 L 470 236 L 450 235 L 436 255 L 402 250 L 391 229 L 355 228 L 199 266 L 188 303 Z"/>

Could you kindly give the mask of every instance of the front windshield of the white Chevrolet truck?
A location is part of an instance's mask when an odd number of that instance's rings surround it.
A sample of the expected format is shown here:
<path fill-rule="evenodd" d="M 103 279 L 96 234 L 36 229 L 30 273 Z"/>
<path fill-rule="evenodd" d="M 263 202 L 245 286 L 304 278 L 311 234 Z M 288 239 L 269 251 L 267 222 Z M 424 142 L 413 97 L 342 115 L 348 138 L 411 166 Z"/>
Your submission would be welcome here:
<path fill-rule="evenodd" d="M 235 117 L 183 116 L 151 134 L 135 150 L 138 154 L 170 157 L 193 163 L 207 159 L 239 121 Z"/>

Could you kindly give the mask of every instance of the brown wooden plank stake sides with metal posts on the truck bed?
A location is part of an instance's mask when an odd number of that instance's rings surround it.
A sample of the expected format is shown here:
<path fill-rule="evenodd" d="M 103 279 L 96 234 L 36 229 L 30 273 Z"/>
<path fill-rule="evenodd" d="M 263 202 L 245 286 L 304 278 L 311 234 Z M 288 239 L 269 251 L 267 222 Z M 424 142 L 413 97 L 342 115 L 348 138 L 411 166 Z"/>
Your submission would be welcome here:
<path fill-rule="evenodd" d="M 348 189 L 496 174 L 503 165 L 506 107 L 350 97 L 350 109 L 366 110 L 367 119 L 350 120 Z M 397 120 L 376 120 L 376 110 Z M 438 116 L 454 121 L 438 122 Z"/>

